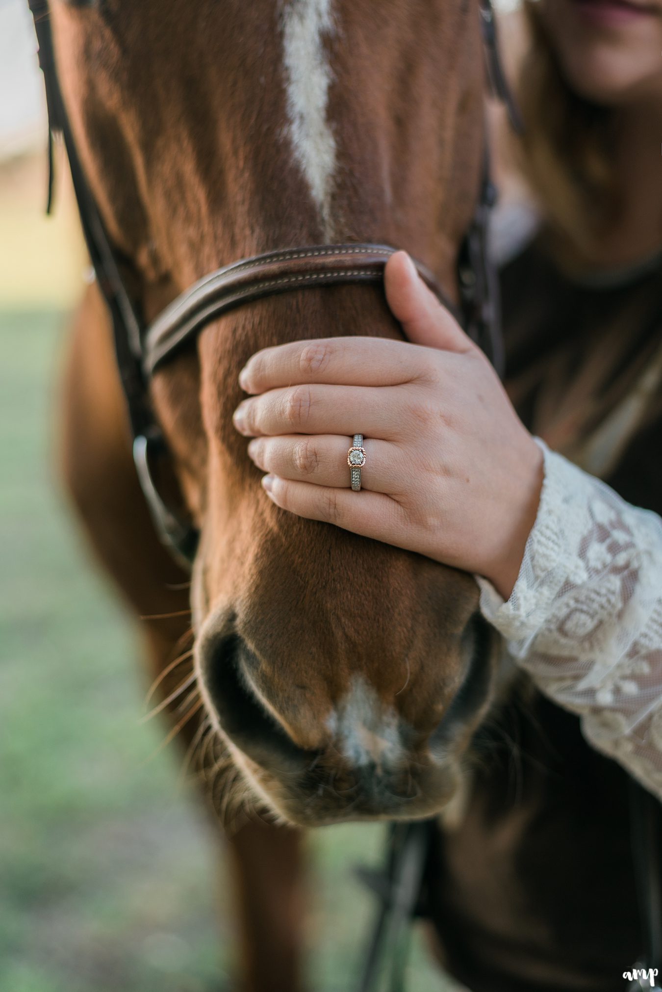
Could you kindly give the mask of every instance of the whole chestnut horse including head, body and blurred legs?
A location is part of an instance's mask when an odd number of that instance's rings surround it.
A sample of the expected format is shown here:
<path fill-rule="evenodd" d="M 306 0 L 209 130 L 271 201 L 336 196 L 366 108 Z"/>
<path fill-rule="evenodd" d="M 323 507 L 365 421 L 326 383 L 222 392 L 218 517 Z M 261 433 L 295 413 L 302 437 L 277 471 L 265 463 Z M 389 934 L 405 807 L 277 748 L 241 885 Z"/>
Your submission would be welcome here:
<path fill-rule="evenodd" d="M 48 4 L 80 169 L 146 323 L 218 266 L 331 242 L 405 248 L 460 302 L 458 258 L 485 185 L 476 5 Z M 88 289 L 73 321 L 62 476 L 142 618 L 159 706 L 187 760 L 209 772 L 213 804 L 271 817 L 226 837 L 245 987 L 301 987 L 302 829 L 440 811 L 450 826 L 426 877 L 450 969 L 477 992 L 499 981 L 510 992 L 602 987 L 581 984 L 586 961 L 554 964 L 544 905 L 542 923 L 523 930 L 538 966 L 521 965 L 512 865 L 524 850 L 538 873 L 548 868 L 525 835 L 544 815 L 544 790 L 520 807 L 507 776 L 490 778 L 492 714 L 509 711 L 517 680 L 499 665 L 473 578 L 282 513 L 232 426 L 239 371 L 260 348 L 310 338 L 312 366 L 325 360 L 316 338 L 401 337 L 379 285 L 253 299 L 210 319 L 150 377 L 169 455 L 161 484 L 199 534 L 190 588 L 139 484 L 102 290 Z M 287 403 L 293 433 L 305 434 L 305 395 L 293 388 Z M 576 737 L 566 749 L 585 755 Z M 567 847 L 572 830 L 555 808 Z M 554 878 L 555 912 L 567 890 Z"/>

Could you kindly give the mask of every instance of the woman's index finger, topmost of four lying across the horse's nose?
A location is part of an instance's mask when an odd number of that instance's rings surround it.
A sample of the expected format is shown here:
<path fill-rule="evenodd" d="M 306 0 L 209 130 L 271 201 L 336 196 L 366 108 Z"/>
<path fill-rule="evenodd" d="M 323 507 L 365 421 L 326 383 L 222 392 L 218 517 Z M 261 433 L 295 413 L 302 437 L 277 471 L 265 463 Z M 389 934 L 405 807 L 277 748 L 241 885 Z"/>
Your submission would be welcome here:
<path fill-rule="evenodd" d="M 278 386 L 397 386 L 432 372 L 432 348 L 387 337 L 320 337 L 263 348 L 239 374 L 246 393 Z"/>

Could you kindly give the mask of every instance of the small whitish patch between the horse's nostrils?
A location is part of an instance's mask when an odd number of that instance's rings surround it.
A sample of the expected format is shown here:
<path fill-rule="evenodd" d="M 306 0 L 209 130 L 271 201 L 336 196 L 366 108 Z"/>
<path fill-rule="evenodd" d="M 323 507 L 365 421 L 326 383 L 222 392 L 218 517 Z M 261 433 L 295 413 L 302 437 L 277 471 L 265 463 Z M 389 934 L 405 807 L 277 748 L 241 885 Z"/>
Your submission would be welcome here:
<path fill-rule="evenodd" d="M 327 725 L 355 767 L 375 764 L 383 772 L 402 757 L 397 713 L 392 706 L 385 709 L 373 686 L 361 676 L 354 677 Z"/>

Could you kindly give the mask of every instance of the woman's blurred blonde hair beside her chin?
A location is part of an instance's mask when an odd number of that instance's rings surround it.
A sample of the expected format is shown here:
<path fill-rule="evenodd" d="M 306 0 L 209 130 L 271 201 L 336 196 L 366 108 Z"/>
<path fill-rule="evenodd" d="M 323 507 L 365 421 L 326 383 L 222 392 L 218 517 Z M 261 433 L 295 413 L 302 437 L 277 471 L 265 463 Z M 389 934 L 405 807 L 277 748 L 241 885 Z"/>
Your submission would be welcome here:
<path fill-rule="evenodd" d="M 524 122 L 519 166 L 558 248 L 590 260 L 616 208 L 614 115 L 571 89 L 538 0 L 523 7 L 530 39 L 517 86 Z"/>

